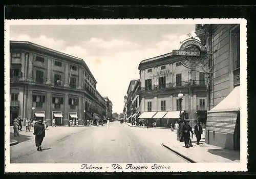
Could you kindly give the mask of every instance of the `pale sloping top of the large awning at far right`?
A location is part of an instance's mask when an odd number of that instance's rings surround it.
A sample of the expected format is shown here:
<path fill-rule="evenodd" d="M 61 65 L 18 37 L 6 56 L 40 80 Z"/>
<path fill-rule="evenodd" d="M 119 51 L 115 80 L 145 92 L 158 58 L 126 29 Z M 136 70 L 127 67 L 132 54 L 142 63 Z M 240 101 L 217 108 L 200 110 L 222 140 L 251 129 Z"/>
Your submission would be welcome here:
<path fill-rule="evenodd" d="M 224 111 L 239 111 L 240 110 L 240 86 L 233 89 L 229 95 L 224 98 L 217 106 L 207 111 L 207 113 L 216 113 Z M 207 121 L 208 122 L 208 121 Z"/>

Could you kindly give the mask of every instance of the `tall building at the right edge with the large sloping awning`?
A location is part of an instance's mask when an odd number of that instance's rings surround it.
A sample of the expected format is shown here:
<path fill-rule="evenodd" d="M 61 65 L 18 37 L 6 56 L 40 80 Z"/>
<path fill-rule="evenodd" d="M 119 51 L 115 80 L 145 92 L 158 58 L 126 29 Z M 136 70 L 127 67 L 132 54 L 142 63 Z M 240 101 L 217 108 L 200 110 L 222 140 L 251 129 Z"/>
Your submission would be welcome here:
<path fill-rule="evenodd" d="M 240 25 L 196 25 L 195 33 L 210 52 L 205 142 L 240 150 Z"/>

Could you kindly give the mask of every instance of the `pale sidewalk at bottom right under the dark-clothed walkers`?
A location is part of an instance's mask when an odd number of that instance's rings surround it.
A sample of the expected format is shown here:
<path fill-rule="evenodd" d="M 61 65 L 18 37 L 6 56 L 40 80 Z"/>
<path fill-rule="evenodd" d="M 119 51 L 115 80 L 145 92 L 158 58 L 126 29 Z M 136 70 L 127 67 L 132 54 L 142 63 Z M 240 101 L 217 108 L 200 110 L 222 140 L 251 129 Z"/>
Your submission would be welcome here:
<path fill-rule="evenodd" d="M 177 141 L 177 133 L 175 131 L 172 132 L 172 136 L 173 141 L 163 143 L 162 145 L 192 163 L 240 162 L 239 151 L 206 144 L 204 142 L 204 132 L 200 145 L 197 145 L 197 138 L 194 136 L 192 140 L 193 146 L 189 148 L 185 148 L 184 142 Z"/>

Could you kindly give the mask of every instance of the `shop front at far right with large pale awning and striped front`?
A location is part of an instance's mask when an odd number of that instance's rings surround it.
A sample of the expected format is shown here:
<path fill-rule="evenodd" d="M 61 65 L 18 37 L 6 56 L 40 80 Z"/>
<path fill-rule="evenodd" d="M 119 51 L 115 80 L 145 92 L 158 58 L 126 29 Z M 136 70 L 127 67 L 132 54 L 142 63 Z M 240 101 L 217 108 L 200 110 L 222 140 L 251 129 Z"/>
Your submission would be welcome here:
<path fill-rule="evenodd" d="M 240 86 L 214 108 L 207 111 L 207 144 L 240 150 Z"/>

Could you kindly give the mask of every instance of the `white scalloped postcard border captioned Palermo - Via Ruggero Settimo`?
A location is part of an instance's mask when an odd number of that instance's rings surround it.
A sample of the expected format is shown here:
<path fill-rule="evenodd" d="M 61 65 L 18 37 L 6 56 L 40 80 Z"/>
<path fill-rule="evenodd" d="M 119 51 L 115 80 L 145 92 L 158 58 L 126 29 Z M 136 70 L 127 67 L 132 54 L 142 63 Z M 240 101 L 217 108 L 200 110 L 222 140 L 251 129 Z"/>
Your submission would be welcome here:
<path fill-rule="evenodd" d="M 118 24 L 240 24 L 241 31 L 241 160 L 240 163 L 131 163 L 137 168 L 113 168 L 113 164 L 10 164 L 10 71 L 9 38 L 11 25 L 118 25 Z M 5 172 L 197 172 L 197 171 L 247 171 L 247 29 L 246 20 L 237 19 L 12 19 L 5 20 Z M 84 165 L 101 167 L 84 169 Z M 116 165 L 117 166 L 117 165 Z M 129 165 L 130 166 L 130 165 Z M 139 168 L 138 167 L 147 167 Z M 166 168 L 167 167 L 167 168 Z M 168 168 L 170 167 L 170 168 Z M 82 169 L 83 168 L 83 169 Z"/>

